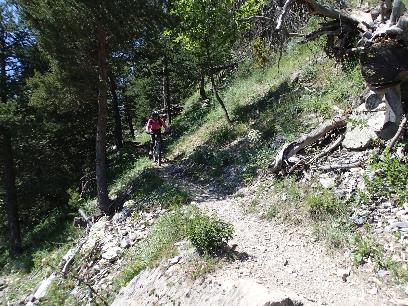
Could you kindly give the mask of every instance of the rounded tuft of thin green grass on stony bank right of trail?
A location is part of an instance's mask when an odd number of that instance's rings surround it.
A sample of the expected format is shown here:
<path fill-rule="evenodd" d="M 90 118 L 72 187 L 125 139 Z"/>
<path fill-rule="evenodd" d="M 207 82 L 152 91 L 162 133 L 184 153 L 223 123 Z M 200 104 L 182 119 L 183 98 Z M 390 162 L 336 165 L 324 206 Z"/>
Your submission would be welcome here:
<path fill-rule="evenodd" d="M 328 192 L 307 194 L 302 204 L 304 213 L 313 220 L 327 218 L 330 215 L 336 216 L 346 211 L 344 204 Z"/>

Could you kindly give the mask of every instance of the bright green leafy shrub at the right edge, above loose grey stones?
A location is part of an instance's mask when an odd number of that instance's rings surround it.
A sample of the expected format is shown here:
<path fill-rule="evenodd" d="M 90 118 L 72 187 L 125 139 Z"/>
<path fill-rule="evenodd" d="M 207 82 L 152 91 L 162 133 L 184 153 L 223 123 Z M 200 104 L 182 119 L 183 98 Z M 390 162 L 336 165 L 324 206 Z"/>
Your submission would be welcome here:
<path fill-rule="evenodd" d="M 406 146 L 406 144 L 401 144 Z M 397 204 L 408 202 L 408 157 L 393 156 L 392 151 L 386 149 L 382 155 L 373 155 L 369 164 L 376 175 L 370 178 L 364 174 L 367 190 L 370 195 L 388 195 Z"/>

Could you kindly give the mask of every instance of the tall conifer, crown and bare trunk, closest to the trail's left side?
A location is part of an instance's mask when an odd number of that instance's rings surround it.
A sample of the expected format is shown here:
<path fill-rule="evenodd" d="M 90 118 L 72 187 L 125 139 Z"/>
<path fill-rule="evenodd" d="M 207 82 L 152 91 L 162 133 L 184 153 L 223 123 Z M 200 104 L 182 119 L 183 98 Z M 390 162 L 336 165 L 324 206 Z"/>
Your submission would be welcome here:
<path fill-rule="evenodd" d="M 122 49 L 150 40 L 164 20 L 160 0 L 18 0 L 42 50 L 62 71 L 90 70 L 98 88 L 96 182 L 98 205 L 111 214 L 115 207 L 106 186 L 107 72 Z M 89 68 L 91 67 L 91 68 Z"/>

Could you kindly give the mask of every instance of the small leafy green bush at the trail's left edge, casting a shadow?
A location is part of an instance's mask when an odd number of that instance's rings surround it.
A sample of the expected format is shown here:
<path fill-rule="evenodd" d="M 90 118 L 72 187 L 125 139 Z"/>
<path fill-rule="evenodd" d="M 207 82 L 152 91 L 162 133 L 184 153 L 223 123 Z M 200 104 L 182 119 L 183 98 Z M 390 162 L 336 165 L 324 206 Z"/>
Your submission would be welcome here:
<path fill-rule="evenodd" d="M 225 222 L 217 213 L 209 217 L 206 213 L 197 212 L 190 219 L 186 235 L 198 251 L 214 251 L 233 237 L 232 223 Z"/>

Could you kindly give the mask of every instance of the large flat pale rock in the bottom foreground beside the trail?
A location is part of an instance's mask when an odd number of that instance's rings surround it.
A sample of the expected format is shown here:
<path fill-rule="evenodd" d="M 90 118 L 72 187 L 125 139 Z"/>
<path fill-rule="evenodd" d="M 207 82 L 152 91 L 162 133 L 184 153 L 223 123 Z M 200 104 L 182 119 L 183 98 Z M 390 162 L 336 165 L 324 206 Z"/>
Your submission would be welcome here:
<path fill-rule="evenodd" d="M 217 305 L 217 306 L 296 306 L 315 305 L 295 293 L 268 290 L 261 284 L 250 279 L 238 279 L 220 281 L 211 276 L 204 280 L 191 281 L 191 277 L 185 274 L 185 268 L 181 265 L 171 267 L 158 266 L 153 269 L 145 269 L 134 277 L 131 282 L 122 288 L 111 306 L 142 306 L 153 305 Z M 170 287 L 170 282 L 180 283 Z M 165 295 L 158 298 L 157 295 Z M 168 290 L 166 292 L 166 290 Z"/>

